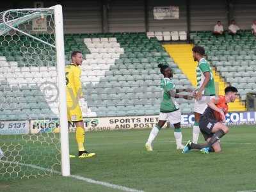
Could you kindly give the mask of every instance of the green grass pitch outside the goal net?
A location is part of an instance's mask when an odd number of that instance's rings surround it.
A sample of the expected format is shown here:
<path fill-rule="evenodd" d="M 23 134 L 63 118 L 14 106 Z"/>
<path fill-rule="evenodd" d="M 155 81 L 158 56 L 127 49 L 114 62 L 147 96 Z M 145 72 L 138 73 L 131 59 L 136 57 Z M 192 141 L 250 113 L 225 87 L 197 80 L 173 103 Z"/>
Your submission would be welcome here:
<path fill-rule="evenodd" d="M 143 191 L 256 190 L 256 127 L 231 127 L 221 139 L 220 154 L 182 154 L 175 149 L 173 129 L 163 129 L 154 152 L 145 150 L 150 129 L 87 132 L 86 147 L 93 159 L 70 159 L 72 175 L 110 182 Z M 191 129 L 183 129 L 184 143 Z M 200 142 L 203 142 L 200 136 Z M 77 154 L 75 135 L 70 152 Z M 0 181 L 1 192 L 11 191 L 118 191 L 70 177 Z"/>

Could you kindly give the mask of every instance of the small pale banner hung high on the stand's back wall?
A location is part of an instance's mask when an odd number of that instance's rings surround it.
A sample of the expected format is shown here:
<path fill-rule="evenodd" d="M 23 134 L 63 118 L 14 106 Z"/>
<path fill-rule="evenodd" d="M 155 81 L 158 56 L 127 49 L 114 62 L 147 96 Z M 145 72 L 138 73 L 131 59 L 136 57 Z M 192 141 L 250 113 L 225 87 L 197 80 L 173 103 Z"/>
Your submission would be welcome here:
<path fill-rule="evenodd" d="M 179 6 L 154 6 L 154 19 L 179 19 Z"/>

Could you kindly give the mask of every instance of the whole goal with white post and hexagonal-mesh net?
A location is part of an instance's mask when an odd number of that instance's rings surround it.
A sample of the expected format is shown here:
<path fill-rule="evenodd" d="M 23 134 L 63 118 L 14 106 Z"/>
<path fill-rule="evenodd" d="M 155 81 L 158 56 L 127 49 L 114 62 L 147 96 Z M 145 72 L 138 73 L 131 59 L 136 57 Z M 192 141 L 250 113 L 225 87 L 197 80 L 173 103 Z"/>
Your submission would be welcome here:
<path fill-rule="evenodd" d="M 0 180 L 70 175 L 61 5 L 0 13 L 0 90 Z"/>

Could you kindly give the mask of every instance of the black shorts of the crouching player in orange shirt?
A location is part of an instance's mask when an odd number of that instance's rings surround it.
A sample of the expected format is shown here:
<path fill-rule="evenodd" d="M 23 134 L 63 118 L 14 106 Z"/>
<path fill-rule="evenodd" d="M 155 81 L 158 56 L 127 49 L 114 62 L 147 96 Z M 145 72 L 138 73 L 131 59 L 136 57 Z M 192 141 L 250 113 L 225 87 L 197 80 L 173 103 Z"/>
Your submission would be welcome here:
<path fill-rule="evenodd" d="M 213 135 L 212 128 L 214 127 L 214 125 L 216 123 L 218 123 L 218 121 L 215 120 L 215 119 L 211 119 L 211 118 L 207 118 L 205 116 L 201 116 L 201 118 L 199 120 L 199 128 L 200 128 L 200 131 L 202 132 L 202 134 L 204 136 L 205 141 L 212 137 L 212 135 Z"/>

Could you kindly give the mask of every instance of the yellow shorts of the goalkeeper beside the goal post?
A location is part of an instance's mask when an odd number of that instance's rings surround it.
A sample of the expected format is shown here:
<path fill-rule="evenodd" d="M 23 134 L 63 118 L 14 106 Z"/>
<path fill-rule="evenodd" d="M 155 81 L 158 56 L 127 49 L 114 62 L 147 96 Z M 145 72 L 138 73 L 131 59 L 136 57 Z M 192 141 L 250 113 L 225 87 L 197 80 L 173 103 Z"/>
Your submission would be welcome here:
<path fill-rule="evenodd" d="M 68 111 L 68 122 L 79 122 L 83 120 L 83 115 L 79 104 L 74 104 L 73 102 L 67 102 Z"/>

